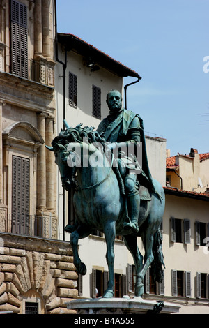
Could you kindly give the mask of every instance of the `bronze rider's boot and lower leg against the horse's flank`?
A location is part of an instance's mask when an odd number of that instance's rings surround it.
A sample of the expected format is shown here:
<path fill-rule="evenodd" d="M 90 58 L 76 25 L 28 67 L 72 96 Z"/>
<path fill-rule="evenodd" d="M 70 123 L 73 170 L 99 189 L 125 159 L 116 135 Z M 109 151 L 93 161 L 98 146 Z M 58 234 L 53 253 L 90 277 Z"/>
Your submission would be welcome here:
<path fill-rule="evenodd" d="M 140 210 L 140 196 L 139 193 L 127 197 L 127 212 L 130 217 L 130 222 L 125 222 L 124 230 L 132 230 L 134 233 L 139 232 L 138 220 Z"/>

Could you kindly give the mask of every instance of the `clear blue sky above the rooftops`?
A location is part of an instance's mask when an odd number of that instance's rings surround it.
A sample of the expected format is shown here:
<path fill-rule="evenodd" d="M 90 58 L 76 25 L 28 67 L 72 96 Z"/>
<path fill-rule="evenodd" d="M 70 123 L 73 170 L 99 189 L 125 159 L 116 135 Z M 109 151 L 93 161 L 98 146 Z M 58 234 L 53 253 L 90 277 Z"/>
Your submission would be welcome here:
<path fill-rule="evenodd" d="M 167 139 L 171 156 L 209 152 L 209 0 L 56 2 L 58 32 L 141 75 L 127 88 L 127 109 L 144 119 L 146 135 Z"/>

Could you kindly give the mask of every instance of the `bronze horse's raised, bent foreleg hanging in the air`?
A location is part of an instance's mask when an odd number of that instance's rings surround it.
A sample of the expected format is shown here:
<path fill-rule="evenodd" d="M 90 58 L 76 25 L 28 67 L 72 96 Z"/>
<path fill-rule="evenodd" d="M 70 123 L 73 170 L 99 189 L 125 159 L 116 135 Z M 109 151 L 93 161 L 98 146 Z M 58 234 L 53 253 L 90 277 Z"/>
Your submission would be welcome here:
<path fill-rule="evenodd" d="M 84 231 L 84 228 L 79 226 L 77 230 L 75 230 L 74 232 L 72 232 L 72 234 L 70 234 L 70 244 L 72 245 L 72 252 L 73 252 L 73 263 L 75 264 L 78 273 L 82 274 L 83 276 L 86 274 L 86 265 L 79 258 L 77 246 L 78 246 L 78 240 L 88 237 L 90 233 L 91 232 Z"/>

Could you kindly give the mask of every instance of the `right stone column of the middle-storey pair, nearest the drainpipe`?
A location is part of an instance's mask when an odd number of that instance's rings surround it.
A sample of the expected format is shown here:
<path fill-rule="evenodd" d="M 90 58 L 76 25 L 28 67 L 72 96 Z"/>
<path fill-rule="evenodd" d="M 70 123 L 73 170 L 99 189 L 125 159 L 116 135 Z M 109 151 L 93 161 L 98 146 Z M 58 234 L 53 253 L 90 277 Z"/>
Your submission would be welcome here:
<path fill-rule="evenodd" d="M 47 117 L 46 119 L 46 144 L 51 146 L 53 140 L 53 117 Z M 54 209 L 54 153 L 46 150 L 46 206 L 47 209 Z"/>

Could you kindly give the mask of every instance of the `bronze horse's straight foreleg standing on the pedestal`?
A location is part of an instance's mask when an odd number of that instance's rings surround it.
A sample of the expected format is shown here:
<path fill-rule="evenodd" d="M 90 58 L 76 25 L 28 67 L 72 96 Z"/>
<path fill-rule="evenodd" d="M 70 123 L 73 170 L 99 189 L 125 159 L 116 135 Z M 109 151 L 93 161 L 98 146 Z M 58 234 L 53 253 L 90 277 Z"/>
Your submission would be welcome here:
<path fill-rule="evenodd" d="M 107 244 L 106 260 L 109 269 L 109 281 L 103 297 L 114 297 L 114 241 L 116 238 L 116 223 L 107 222 L 104 226 L 104 237 Z"/>

